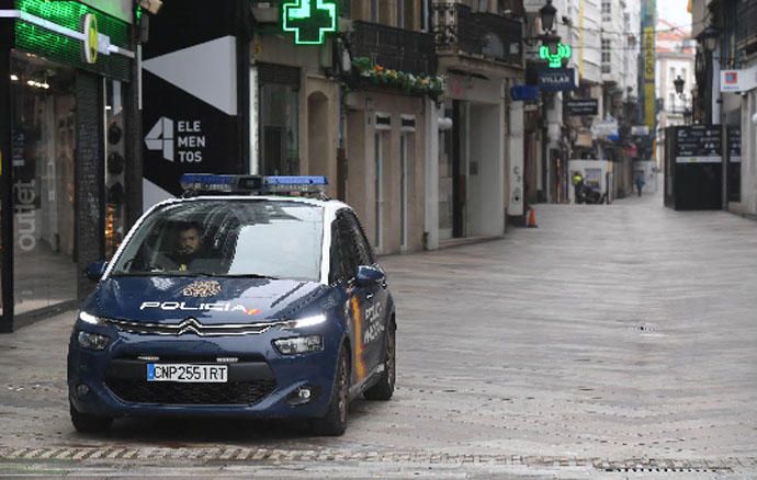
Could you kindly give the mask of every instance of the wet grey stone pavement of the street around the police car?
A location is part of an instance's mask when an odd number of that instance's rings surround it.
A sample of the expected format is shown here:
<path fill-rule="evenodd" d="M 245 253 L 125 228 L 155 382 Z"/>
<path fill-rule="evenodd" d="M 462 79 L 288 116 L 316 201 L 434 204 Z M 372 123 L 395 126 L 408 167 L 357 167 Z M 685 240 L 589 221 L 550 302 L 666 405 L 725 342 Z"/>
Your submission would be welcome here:
<path fill-rule="evenodd" d="M 659 197 L 383 259 L 398 388 L 340 438 L 122 420 L 74 432 L 74 313 L 0 336 L 0 477 L 757 478 L 757 224 Z M 509 476 L 509 477 L 508 477 Z"/>

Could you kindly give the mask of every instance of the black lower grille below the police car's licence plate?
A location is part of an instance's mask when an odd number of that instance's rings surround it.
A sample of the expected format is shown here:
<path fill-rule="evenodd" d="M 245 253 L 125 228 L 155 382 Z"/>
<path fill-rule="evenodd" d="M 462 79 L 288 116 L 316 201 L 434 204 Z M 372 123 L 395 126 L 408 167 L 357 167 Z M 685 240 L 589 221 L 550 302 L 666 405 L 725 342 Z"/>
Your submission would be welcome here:
<path fill-rule="evenodd" d="M 172 384 L 109 378 L 105 385 L 127 403 L 171 405 L 249 405 L 265 398 L 276 387 L 275 380 L 263 379 L 227 384 Z"/>

